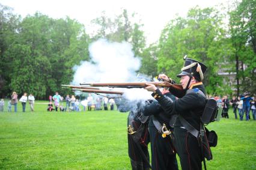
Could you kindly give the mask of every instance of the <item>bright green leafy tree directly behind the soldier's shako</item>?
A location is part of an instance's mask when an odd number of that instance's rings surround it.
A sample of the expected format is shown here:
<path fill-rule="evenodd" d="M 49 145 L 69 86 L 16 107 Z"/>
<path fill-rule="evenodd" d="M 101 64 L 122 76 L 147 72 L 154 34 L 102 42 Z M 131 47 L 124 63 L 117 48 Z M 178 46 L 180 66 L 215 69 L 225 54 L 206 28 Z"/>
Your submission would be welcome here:
<path fill-rule="evenodd" d="M 232 50 L 225 41 L 222 15 L 214 8 L 192 8 L 187 17 L 171 20 L 159 40 L 158 71 L 170 77 L 180 72 L 183 56 L 207 65 L 204 83 L 208 94 L 224 93 L 219 64 L 229 58 Z"/>

